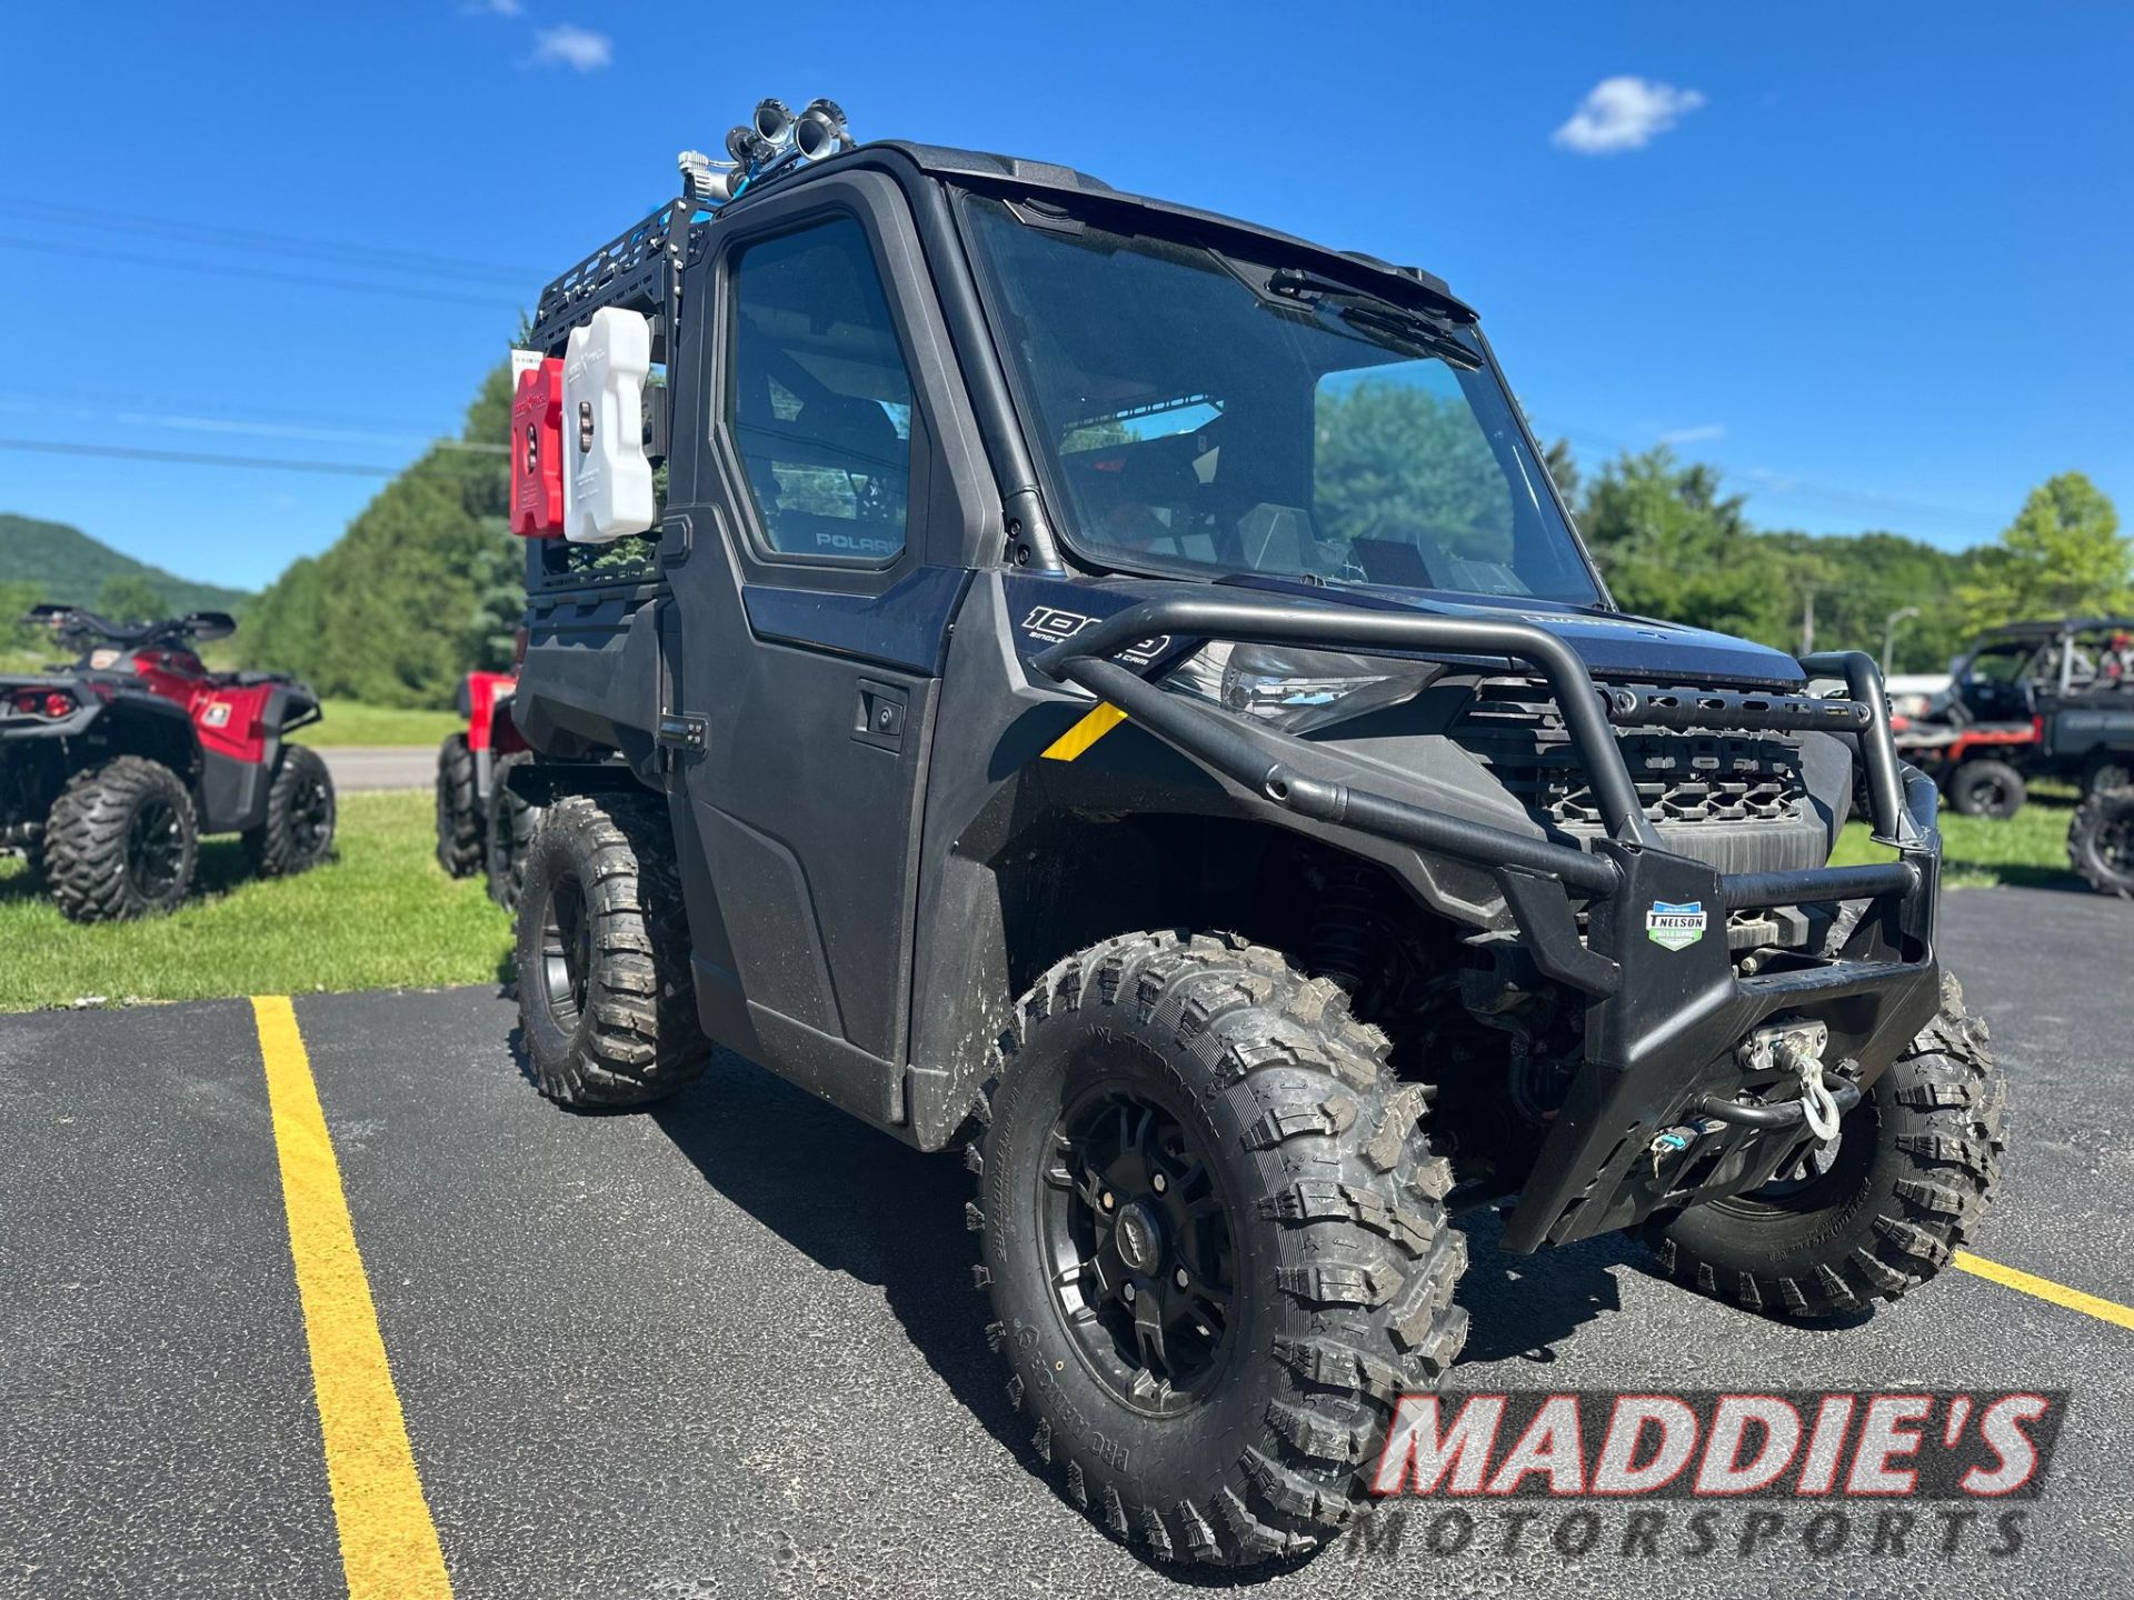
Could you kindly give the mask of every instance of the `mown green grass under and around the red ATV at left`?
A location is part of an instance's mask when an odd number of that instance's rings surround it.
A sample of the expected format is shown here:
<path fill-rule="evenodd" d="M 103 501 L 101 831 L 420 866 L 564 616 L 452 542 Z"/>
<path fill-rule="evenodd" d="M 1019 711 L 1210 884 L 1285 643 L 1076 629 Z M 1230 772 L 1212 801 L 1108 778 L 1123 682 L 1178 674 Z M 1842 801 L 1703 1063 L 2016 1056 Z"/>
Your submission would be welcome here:
<path fill-rule="evenodd" d="M 92 994 L 120 1005 L 495 983 L 510 917 L 478 879 L 437 868 L 433 826 L 427 794 L 341 796 L 327 866 L 260 881 L 235 838 L 211 838 L 177 913 L 87 928 L 66 922 L 19 860 L 0 860 L 0 1011 Z"/>

